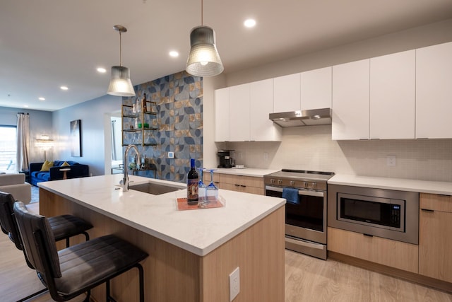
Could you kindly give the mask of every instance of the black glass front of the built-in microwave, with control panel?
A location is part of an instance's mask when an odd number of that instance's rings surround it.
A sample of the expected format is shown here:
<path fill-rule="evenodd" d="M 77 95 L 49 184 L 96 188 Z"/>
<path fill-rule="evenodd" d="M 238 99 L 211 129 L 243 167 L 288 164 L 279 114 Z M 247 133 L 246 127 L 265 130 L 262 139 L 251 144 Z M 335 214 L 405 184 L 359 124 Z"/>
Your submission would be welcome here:
<path fill-rule="evenodd" d="M 400 228 L 400 204 L 341 197 L 340 218 Z"/>

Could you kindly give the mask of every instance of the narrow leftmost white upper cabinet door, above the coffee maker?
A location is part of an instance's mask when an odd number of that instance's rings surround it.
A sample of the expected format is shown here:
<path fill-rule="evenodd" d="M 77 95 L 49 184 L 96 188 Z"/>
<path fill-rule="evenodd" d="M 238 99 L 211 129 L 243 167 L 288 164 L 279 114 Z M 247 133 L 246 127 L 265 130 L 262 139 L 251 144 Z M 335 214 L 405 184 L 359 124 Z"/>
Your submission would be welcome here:
<path fill-rule="evenodd" d="M 215 90 L 215 141 L 230 141 L 230 88 Z"/>

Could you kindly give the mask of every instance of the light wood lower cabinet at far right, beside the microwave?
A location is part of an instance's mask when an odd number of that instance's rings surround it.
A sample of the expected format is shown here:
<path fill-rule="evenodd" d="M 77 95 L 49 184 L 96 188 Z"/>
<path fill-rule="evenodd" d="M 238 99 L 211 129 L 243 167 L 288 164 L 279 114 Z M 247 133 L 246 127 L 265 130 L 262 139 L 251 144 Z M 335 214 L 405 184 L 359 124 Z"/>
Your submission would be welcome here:
<path fill-rule="evenodd" d="M 419 273 L 452 282 L 452 197 L 420 194 Z"/>

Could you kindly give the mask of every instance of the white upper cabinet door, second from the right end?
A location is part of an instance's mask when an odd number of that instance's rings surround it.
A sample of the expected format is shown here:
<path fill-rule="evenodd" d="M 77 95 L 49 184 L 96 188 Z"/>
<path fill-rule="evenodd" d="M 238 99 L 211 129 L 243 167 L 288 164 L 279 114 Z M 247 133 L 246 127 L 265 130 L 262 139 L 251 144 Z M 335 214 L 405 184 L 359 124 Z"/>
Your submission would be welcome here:
<path fill-rule="evenodd" d="M 415 50 L 370 59 L 370 138 L 415 138 Z"/>

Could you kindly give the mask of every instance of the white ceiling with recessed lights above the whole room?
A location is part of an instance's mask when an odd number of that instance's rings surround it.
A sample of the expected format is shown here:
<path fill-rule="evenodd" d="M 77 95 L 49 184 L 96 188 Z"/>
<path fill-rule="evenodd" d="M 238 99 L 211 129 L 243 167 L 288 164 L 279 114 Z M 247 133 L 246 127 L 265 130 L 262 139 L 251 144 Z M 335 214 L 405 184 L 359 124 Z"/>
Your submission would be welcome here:
<path fill-rule="evenodd" d="M 203 8 L 225 73 L 452 18 L 451 0 L 204 0 Z M 249 17 L 256 28 L 242 25 Z M 116 24 L 128 29 L 122 63 L 133 85 L 145 83 L 185 69 L 201 0 L 0 0 L 0 106 L 53 111 L 105 95 L 119 64 Z"/>

